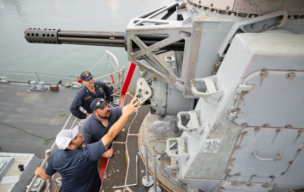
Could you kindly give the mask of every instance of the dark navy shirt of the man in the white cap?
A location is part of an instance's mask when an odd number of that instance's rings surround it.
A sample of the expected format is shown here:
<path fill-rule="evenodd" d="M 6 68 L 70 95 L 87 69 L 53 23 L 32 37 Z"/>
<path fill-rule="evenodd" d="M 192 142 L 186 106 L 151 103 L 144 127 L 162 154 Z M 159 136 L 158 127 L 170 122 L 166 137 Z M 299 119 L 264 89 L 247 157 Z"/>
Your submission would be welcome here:
<path fill-rule="evenodd" d="M 63 192 L 99 192 L 97 160 L 105 151 L 101 140 L 68 152 L 57 150 L 51 155 L 45 174 L 60 173 Z"/>

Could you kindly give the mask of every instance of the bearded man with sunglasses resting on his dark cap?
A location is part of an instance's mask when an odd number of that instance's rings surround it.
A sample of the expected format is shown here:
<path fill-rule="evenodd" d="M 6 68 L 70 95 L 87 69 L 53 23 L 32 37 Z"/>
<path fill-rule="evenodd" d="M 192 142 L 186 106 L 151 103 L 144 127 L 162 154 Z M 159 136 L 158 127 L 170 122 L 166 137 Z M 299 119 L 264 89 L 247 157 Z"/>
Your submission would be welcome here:
<path fill-rule="evenodd" d="M 93 111 L 83 122 L 82 122 L 82 137 L 85 138 L 83 145 L 95 143 L 99 141 L 112 127 L 112 125 L 121 117 L 127 106 L 117 106 L 109 108 L 109 101 L 97 98 L 91 103 L 91 110 Z M 107 149 L 108 146 L 106 146 Z M 100 171 L 103 159 L 111 158 L 114 154 L 113 149 L 107 150 L 98 159 L 98 170 Z"/>

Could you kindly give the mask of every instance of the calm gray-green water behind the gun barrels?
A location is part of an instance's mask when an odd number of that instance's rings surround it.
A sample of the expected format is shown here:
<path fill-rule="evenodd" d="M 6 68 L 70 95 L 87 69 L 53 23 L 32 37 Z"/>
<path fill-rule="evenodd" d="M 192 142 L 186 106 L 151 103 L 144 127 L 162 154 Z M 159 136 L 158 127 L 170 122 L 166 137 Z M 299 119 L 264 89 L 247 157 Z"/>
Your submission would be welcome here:
<path fill-rule="evenodd" d="M 120 66 L 128 70 L 129 61 L 124 48 L 30 44 L 24 39 L 24 30 L 124 32 L 130 19 L 171 2 L 173 0 L 0 0 L 0 76 L 14 81 L 37 81 L 34 73 L 37 72 L 40 81 L 45 83 L 57 84 L 57 79 L 68 82 L 76 80 L 82 71 L 93 68 L 106 50 L 112 52 Z M 112 64 L 110 67 L 114 72 L 115 67 Z M 91 72 L 95 77 L 110 73 L 107 57 Z M 50 79 L 41 79 L 41 76 Z M 56 80 L 51 80 L 53 78 Z"/>

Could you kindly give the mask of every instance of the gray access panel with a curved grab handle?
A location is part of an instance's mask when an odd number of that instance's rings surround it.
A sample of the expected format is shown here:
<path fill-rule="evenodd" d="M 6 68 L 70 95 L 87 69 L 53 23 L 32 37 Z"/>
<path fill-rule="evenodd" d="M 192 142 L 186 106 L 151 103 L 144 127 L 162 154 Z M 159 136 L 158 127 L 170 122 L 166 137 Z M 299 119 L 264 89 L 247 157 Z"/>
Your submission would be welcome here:
<path fill-rule="evenodd" d="M 298 155 L 297 150 L 303 148 L 303 136 L 297 129 L 248 127 L 242 132 L 236 143 L 233 159 L 229 163 L 231 176 L 281 177 L 285 172 L 289 172 L 288 163 Z M 277 153 L 281 152 L 283 159 L 260 160 L 252 154 L 253 151 L 257 151 L 258 157 L 267 159 L 278 159 L 280 157 Z M 286 178 L 282 183 L 285 182 Z"/>

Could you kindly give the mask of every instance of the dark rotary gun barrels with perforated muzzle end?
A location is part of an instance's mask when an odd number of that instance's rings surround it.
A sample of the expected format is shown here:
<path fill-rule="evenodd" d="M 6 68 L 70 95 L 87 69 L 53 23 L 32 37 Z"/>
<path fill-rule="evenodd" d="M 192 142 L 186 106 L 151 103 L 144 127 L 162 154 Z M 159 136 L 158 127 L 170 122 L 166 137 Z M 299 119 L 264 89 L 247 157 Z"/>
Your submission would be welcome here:
<path fill-rule="evenodd" d="M 24 34 L 25 39 L 29 43 L 125 47 L 127 50 L 127 43 L 124 32 L 71 31 L 60 29 L 27 28 L 24 31 Z M 142 40 L 146 46 L 151 46 L 168 37 L 169 35 L 166 34 L 138 35 L 138 38 Z M 185 43 L 183 41 L 179 41 L 161 49 L 183 51 L 184 45 Z M 138 48 L 135 43 L 132 44 L 132 47 Z"/>

